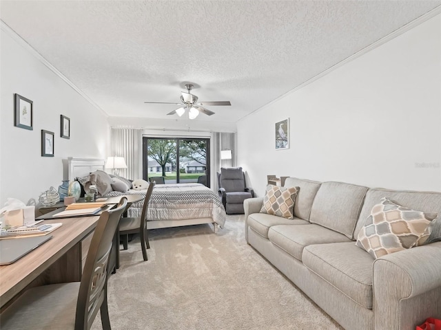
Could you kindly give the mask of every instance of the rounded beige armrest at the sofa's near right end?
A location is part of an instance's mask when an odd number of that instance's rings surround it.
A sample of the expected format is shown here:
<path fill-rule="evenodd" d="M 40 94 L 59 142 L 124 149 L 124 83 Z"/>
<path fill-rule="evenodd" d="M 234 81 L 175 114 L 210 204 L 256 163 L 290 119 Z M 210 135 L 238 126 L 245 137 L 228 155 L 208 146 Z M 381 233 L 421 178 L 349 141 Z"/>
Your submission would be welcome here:
<path fill-rule="evenodd" d="M 375 329 L 415 329 L 441 318 L 441 242 L 388 254 L 373 263 Z"/>

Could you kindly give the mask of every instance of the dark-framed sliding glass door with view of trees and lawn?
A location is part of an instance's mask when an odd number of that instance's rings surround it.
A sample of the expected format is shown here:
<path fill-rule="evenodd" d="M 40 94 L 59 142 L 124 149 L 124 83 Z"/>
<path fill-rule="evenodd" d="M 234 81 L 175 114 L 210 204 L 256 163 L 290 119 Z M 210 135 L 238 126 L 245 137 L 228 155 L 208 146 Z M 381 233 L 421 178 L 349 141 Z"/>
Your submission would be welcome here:
<path fill-rule="evenodd" d="M 143 137 L 143 179 L 209 187 L 209 139 Z"/>

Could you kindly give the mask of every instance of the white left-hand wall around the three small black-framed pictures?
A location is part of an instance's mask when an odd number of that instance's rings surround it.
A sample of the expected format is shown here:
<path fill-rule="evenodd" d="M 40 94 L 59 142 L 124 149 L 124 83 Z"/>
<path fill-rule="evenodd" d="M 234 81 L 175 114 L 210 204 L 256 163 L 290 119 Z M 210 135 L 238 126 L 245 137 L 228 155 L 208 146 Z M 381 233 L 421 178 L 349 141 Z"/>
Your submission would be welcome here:
<path fill-rule="evenodd" d="M 62 159 L 104 158 L 110 126 L 60 76 L 43 64 L 30 47 L 1 23 L 0 206 L 8 197 L 27 202 L 63 179 Z M 32 100 L 34 129 L 14 126 L 14 94 Z M 70 140 L 60 137 L 60 115 L 70 118 Z M 54 135 L 54 157 L 41 157 L 41 129 Z"/>

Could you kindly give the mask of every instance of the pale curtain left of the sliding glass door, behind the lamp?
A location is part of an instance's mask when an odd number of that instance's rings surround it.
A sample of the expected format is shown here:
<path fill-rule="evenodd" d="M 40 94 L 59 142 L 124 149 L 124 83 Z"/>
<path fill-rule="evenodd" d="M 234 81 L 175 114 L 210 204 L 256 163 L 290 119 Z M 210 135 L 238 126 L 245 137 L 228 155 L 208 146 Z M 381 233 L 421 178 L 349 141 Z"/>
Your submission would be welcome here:
<path fill-rule="evenodd" d="M 124 157 L 127 168 L 120 170 L 121 177 L 143 178 L 143 135 L 141 129 L 112 128 L 111 156 Z"/>

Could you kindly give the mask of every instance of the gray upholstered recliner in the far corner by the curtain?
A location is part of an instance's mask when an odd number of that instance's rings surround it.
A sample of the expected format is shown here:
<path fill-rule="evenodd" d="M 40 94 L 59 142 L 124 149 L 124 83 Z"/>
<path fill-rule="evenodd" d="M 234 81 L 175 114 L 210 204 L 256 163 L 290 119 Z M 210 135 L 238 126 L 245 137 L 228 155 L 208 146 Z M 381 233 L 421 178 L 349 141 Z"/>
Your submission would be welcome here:
<path fill-rule="evenodd" d="M 254 191 L 246 187 L 242 168 L 220 168 L 218 184 L 218 194 L 227 214 L 243 214 L 243 201 L 254 197 Z"/>

